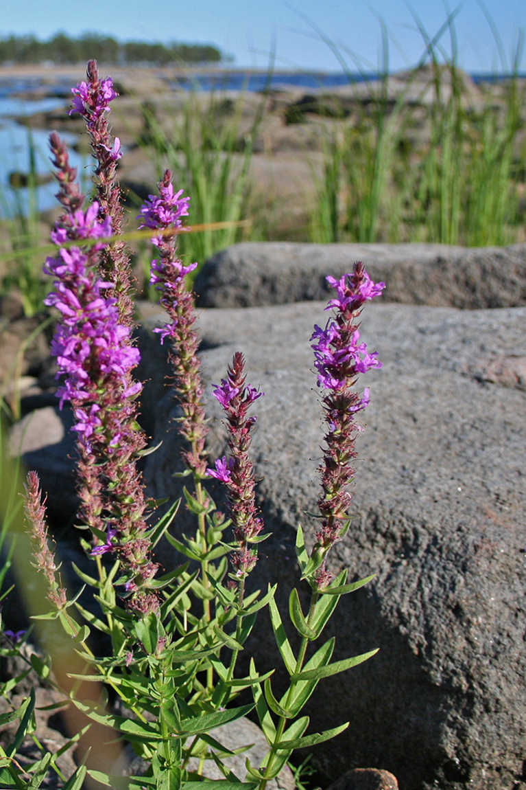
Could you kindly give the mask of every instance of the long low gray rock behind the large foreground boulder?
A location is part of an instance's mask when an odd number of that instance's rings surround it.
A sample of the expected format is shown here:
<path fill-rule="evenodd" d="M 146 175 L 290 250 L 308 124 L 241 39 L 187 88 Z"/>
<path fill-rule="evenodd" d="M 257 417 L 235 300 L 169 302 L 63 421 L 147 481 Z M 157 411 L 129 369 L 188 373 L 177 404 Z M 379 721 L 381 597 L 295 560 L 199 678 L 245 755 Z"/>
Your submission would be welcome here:
<path fill-rule="evenodd" d="M 245 242 L 213 255 L 196 277 L 201 307 L 326 299 L 325 276 L 340 277 L 364 261 L 383 301 L 433 307 L 519 307 L 526 304 L 526 244 L 304 244 Z"/>

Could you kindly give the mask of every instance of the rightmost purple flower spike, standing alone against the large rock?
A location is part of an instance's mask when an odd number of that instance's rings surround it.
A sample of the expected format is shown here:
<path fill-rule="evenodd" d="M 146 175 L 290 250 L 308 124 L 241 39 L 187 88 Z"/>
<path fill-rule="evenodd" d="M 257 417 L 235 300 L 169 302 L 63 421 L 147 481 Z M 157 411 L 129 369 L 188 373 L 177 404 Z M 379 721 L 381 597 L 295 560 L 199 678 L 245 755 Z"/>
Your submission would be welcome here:
<path fill-rule="evenodd" d="M 356 433 L 361 430 L 355 418 L 369 403 L 368 389 L 364 389 L 360 397 L 353 387 L 358 374 L 382 367 L 377 352 L 368 353 L 366 345 L 359 342 L 356 318 L 364 303 L 380 295 L 385 287 L 384 283 L 371 281 L 361 262 L 354 265 L 352 274 L 340 280 L 334 277 L 326 280 L 337 292 L 337 298 L 331 299 L 326 307 L 326 310 L 335 310 L 334 320 L 329 320 L 324 329 L 315 325 L 311 337 L 318 386 L 326 389 L 322 403 L 327 430 L 323 464 L 319 466 L 322 492 L 318 506 L 322 522 L 312 553 L 318 566 L 315 582 L 319 589 L 330 581 L 325 555 L 349 529 L 352 495 L 348 487 L 354 475 Z"/>

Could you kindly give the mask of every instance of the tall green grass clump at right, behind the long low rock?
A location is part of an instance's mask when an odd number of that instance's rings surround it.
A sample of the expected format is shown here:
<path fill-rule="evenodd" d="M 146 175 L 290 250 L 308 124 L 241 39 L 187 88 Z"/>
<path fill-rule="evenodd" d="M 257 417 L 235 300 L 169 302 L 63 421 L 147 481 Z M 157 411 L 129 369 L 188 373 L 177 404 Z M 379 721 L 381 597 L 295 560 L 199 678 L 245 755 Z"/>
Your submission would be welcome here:
<path fill-rule="evenodd" d="M 509 66 L 488 17 L 509 77 L 474 95 L 457 65 L 455 13 L 435 36 L 413 14 L 424 52 L 397 95 L 391 91 L 389 36 L 381 23 L 378 81 L 367 102 L 356 96 L 347 122 L 336 132 L 327 130 L 323 175 L 315 179 L 311 240 L 483 246 L 517 239 L 524 224 L 520 190 L 526 149 L 520 132 L 526 89 L 518 77 L 523 36 Z M 446 32 L 450 55 L 441 43 Z M 323 39 L 353 84 L 344 53 L 361 70 L 358 58 Z"/>

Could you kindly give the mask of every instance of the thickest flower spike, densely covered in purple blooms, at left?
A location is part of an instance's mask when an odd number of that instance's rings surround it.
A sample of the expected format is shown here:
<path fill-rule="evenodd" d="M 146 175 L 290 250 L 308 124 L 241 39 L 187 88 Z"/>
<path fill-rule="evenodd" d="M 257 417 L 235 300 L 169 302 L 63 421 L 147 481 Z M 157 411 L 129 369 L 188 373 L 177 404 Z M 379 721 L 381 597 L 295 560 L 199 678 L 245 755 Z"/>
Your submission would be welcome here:
<path fill-rule="evenodd" d="M 68 201 L 74 180 L 67 152 L 57 136 L 52 136 L 51 148 L 66 210 L 51 233 L 59 250 L 44 267 L 56 278 L 46 303 L 62 316 L 52 352 L 58 374 L 65 376 L 58 389 L 61 406 L 69 401 L 76 419 L 82 515 L 95 536 L 105 534 L 106 525 L 112 530 L 115 543 L 109 542 L 108 531 L 105 546 L 118 551 L 129 608 L 146 613 L 155 611 L 159 602 L 149 589 L 158 566 L 151 561 L 144 536 L 147 503 L 136 467 L 137 454 L 145 445 L 136 425 L 135 398 L 141 386 L 132 380 L 140 355 L 130 344 L 129 326 L 119 322 L 117 299 L 106 295 L 112 284 L 99 276 L 103 244 L 97 239 L 110 235 L 110 218 L 99 222 L 96 201 L 85 211 L 72 210 L 72 201 L 75 207 L 82 201 L 76 188 Z M 95 243 L 85 246 L 90 240 Z M 68 242 L 79 246 L 61 246 Z"/>

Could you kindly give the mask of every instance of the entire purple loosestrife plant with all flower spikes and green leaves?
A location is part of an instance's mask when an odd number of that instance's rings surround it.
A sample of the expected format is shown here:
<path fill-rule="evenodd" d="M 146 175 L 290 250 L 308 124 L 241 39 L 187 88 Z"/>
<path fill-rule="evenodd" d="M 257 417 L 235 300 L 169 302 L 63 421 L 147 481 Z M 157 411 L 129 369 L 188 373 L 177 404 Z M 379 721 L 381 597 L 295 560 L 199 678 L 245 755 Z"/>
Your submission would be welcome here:
<path fill-rule="evenodd" d="M 173 189 L 170 171 L 159 182 L 159 194 L 151 195 L 141 209 L 140 223 L 155 246 L 151 282 L 159 290 L 168 314 L 159 333 L 161 341 L 170 347 L 173 389 L 181 408 L 178 427 L 185 439 L 186 472 L 178 476 L 189 476 L 193 482 L 193 491 L 183 487 L 183 493 L 188 511 L 196 515 L 195 540 L 187 535 L 178 540 L 167 532 L 178 502 L 155 525 L 147 524 L 148 503 L 137 468 L 145 438 L 136 425 L 136 397 L 141 388 L 132 377 L 139 352 L 131 338 L 129 261 L 127 254 L 119 252 L 124 250 L 120 240 L 110 250 L 106 243 L 112 233 L 121 235 L 122 230 L 115 181 L 120 144 L 110 137 L 107 127 L 109 103 L 116 94 L 109 77 L 99 80 L 95 62 L 88 64 L 88 81 L 77 85 L 73 93 L 73 111 L 87 122 L 98 163 L 99 194 L 91 205 L 84 205 L 65 145 L 58 135 L 52 135 L 60 184 L 58 200 L 64 210 L 52 232 L 57 254 L 47 259 L 45 269 L 54 276 L 54 291 L 47 305 L 60 315 L 53 340 L 59 374 L 64 377 L 58 394 L 61 406 L 71 404 L 75 416 L 80 514 L 94 536 L 88 548 L 99 578 L 79 569 L 76 572 L 95 589 L 99 614 L 92 607 L 84 608 L 80 600 L 67 600 L 47 544 L 38 479 L 30 473 L 26 512 L 36 562 L 47 579 L 53 605 L 53 611 L 39 617 L 57 621 L 66 638 L 74 639 L 75 653 L 86 664 L 84 671 L 71 672 L 72 682 L 65 684 L 64 693 L 72 709 L 79 709 L 95 724 L 113 728 L 116 738 L 134 743 L 149 762 L 144 777 L 130 777 L 134 786 L 181 790 L 188 781 L 203 778 L 203 766 L 211 760 L 210 747 L 214 747 L 213 759 L 225 777 L 222 790 L 236 790 L 239 782 L 222 765 L 220 756 L 228 750 L 223 752 L 218 747 L 211 731 L 255 709 L 268 751 L 259 767 L 246 762 L 246 781 L 264 790 L 294 749 L 310 748 L 348 726 L 341 724 L 305 735 L 309 720 L 300 714 L 319 680 L 360 664 L 375 652 L 331 662 L 334 638 L 310 651 L 308 646 L 322 634 L 340 597 L 368 581 L 347 584 L 346 570 L 332 577 L 325 558 L 349 529 L 349 487 L 354 476 L 355 439 L 360 431 L 356 420 L 369 401 L 367 389 L 361 394 L 356 389 L 357 379 L 359 374 L 380 367 L 376 353 L 367 352 L 360 340 L 357 319 L 364 303 L 379 295 L 383 284 L 372 283 L 360 263 L 340 280 L 327 278 L 336 289 L 336 297 L 326 309 L 334 314 L 325 327 L 315 326 L 311 338 L 326 431 L 319 467 L 319 529 L 310 555 L 301 526 L 297 530 L 297 558 L 311 598 L 304 615 L 300 595 L 293 589 L 284 624 L 274 600 L 277 585 L 268 585 L 263 596 L 259 590 L 245 589 L 248 574 L 256 565 L 256 545 L 264 539 L 256 506 L 255 469 L 249 457 L 256 422 L 249 409 L 263 393 L 246 384 L 244 357 L 237 352 L 226 378 L 214 386 L 214 396 L 226 416 L 229 451 L 209 466 L 195 303 L 186 283 L 186 275 L 195 264 L 184 265 L 177 257 L 177 234 L 184 229 L 189 198 L 182 196 L 182 190 Z M 230 520 L 215 510 L 205 488 L 206 479 L 219 480 L 226 487 Z M 222 532 L 229 524 L 233 540 L 226 543 Z M 151 559 L 151 552 L 164 535 L 188 562 L 158 577 L 159 566 Z M 114 560 L 113 566 L 107 559 Z M 118 592 L 126 601 L 125 608 L 118 604 Z M 279 698 L 271 685 L 273 671 L 260 675 L 254 660 L 247 676 L 235 675 L 237 656 L 246 649 L 257 613 L 266 605 L 289 675 L 289 686 Z M 84 625 L 76 623 L 69 613 L 73 606 Z M 291 644 L 285 626 L 293 626 L 299 640 Z M 99 630 L 110 640 L 110 656 L 97 657 L 91 652 L 87 641 L 90 630 Z M 225 658 L 225 653 L 229 657 Z M 49 665 L 49 661 L 32 660 L 33 668 L 40 668 L 43 677 Z M 119 700 L 118 712 L 108 713 L 102 705 L 83 700 L 79 690 L 86 685 L 93 688 L 95 679 L 112 688 Z M 252 690 L 253 705 L 233 706 L 242 688 Z M 79 732 L 73 735 L 76 739 Z M 113 737 L 110 740 L 113 742 Z M 197 758 L 195 773 L 188 769 L 191 758 Z M 18 772 L 14 763 L 8 769 L 0 766 L 0 784 L 4 780 L 2 771 L 9 770 L 9 787 L 29 790 L 46 759 L 47 755 L 35 762 L 29 774 Z M 123 777 L 91 766 L 88 774 L 99 783 L 97 786 L 122 786 Z M 70 783 L 80 787 L 85 774 L 85 766 L 80 766 Z M 28 775 L 31 785 L 25 781 Z"/>

